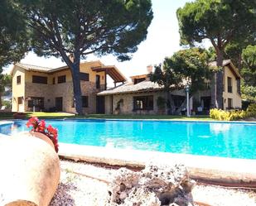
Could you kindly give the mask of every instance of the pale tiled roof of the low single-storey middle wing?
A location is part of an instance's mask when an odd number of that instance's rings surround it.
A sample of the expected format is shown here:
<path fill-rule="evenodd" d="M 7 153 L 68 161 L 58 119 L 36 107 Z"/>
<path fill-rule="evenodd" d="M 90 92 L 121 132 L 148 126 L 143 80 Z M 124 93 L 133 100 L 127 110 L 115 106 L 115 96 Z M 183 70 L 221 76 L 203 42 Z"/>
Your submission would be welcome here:
<path fill-rule="evenodd" d="M 163 89 L 162 86 L 159 86 L 157 83 L 151 81 L 143 81 L 138 84 L 127 83 L 120 85 L 113 89 L 105 90 L 98 95 L 111 95 L 118 93 L 138 93 L 138 92 L 146 92 L 146 91 L 155 91 Z"/>

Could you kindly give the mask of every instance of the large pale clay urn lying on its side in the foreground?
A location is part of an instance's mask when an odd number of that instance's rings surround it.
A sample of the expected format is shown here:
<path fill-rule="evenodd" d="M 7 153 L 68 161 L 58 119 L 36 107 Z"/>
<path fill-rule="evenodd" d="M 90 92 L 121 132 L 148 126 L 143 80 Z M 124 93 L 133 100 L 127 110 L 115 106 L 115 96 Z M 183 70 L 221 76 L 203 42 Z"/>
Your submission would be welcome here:
<path fill-rule="evenodd" d="M 60 160 L 43 136 L 26 132 L 0 138 L 0 205 L 50 204 L 60 180 Z"/>

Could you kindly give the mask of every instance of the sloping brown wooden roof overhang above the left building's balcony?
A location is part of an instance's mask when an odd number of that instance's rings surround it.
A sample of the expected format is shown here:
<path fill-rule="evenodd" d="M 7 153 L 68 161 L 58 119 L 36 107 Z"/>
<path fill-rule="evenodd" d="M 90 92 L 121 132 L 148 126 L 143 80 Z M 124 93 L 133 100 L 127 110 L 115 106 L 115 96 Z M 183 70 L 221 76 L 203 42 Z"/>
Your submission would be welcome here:
<path fill-rule="evenodd" d="M 127 79 L 123 76 L 123 74 L 116 68 L 115 66 L 97 66 L 91 68 L 93 71 L 101 72 L 105 71 L 106 74 L 109 74 L 109 76 L 114 79 L 114 82 L 125 82 Z"/>

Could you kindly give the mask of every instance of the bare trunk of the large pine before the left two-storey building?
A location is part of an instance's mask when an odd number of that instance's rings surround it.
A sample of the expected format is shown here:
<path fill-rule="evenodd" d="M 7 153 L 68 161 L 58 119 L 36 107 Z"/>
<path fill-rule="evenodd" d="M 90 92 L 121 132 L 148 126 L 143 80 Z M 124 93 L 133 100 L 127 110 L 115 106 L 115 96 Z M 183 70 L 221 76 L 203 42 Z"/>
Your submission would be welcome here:
<path fill-rule="evenodd" d="M 75 102 L 75 111 L 76 113 L 82 115 L 83 108 L 82 108 L 82 92 L 81 92 L 81 85 L 80 85 L 80 58 L 74 60 L 72 64 L 71 74 L 73 80 L 73 93 L 74 93 L 74 102 Z"/>

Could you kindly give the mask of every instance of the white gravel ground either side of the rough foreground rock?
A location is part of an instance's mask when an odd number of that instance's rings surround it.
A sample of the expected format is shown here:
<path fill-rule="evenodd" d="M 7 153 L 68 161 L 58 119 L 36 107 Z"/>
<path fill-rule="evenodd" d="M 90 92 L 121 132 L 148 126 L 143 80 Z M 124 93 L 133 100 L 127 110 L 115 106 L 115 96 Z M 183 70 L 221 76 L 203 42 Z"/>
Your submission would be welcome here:
<path fill-rule="evenodd" d="M 69 160 L 61 160 L 60 168 L 60 184 L 50 206 L 105 205 L 114 169 Z M 255 190 L 197 184 L 192 194 L 195 200 L 212 206 L 256 206 Z"/>

